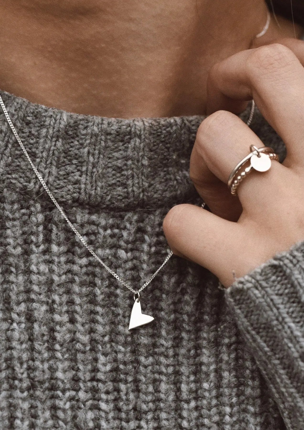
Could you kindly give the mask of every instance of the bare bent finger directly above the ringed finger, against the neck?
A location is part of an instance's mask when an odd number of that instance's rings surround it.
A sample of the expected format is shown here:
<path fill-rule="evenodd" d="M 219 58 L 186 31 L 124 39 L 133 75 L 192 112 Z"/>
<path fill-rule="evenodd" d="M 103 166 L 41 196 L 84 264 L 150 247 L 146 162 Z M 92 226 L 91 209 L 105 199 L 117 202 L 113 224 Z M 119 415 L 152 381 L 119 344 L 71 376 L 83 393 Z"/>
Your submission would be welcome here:
<path fill-rule="evenodd" d="M 289 39 L 288 44 L 248 49 L 215 64 L 207 83 L 207 113 L 239 113 L 253 98 L 285 142 L 286 164 L 303 165 L 304 42 Z"/>

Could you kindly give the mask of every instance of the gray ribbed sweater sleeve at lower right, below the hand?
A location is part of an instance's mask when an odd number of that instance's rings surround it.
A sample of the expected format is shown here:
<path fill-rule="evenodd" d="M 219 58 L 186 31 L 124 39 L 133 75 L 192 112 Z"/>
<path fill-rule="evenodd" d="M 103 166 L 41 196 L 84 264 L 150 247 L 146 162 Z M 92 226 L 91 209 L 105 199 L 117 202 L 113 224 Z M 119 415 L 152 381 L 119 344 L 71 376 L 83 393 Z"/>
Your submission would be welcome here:
<path fill-rule="evenodd" d="M 225 292 L 288 429 L 304 429 L 304 242 Z"/>

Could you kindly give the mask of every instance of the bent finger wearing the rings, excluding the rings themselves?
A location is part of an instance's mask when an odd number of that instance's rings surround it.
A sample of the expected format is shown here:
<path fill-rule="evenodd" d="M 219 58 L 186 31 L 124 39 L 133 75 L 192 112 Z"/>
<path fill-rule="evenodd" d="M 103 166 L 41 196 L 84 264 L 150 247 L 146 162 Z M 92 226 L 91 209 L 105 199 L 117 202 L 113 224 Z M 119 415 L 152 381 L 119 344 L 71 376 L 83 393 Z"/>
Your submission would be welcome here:
<path fill-rule="evenodd" d="M 258 136 L 239 117 L 230 112 L 217 111 L 201 123 L 193 147 L 194 156 L 191 156 L 190 160 L 190 172 L 197 173 L 195 180 L 198 184 L 197 190 L 212 212 L 214 212 L 212 193 L 208 192 L 210 175 L 223 183 L 222 193 L 226 193 L 227 200 L 229 196 L 230 212 L 234 213 L 238 209 L 238 200 L 231 196 L 227 182 L 234 167 L 250 153 L 251 144 L 258 148 L 264 146 Z M 209 175 L 206 175 L 206 168 L 211 172 Z M 237 189 L 243 209 L 266 210 L 270 189 L 278 193 L 279 199 L 281 184 L 288 170 L 277 161 L 272 161 L 272 166 L 267 172 L 256 172 L 252 169 Z M 218 198 L 218 195 L 215 197 Z"/>

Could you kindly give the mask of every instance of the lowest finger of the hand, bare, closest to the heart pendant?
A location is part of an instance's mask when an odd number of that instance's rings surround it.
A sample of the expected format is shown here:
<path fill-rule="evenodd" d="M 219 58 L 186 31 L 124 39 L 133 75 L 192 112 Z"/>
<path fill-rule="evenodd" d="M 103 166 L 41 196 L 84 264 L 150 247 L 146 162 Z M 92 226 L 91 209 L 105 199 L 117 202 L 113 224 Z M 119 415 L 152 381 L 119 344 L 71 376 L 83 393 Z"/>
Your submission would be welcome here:
<path fill-rule="evenodd" d="M 206 267 L 225 286 L 233 283 L 233 272 L 239 271 L 240 243 L 243 243 L 239 224 L 198 206 L 182 204 L 170 209 L 163 221 L 163 230 L 174 254 Z"/>

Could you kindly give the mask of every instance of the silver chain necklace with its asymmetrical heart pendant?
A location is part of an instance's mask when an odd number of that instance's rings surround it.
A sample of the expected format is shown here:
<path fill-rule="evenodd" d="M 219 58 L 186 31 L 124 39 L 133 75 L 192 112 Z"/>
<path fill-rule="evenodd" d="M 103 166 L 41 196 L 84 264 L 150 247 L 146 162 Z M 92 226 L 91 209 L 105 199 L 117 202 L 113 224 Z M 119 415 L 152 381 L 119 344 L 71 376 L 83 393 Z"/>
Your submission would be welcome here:
<path fill-rule="evenodd" d="M 61 213 L 61 215 L 64 217 L 65 221 L 67 221 L 68 225 L 74 231 L 74 233 L 76 234 L 76 236 L 79 237 L 79 239 L 81 240 L 81 242 L 83 243 L 83 245 L 86 247 L 86 249 L 88 249 L 88 251 L 93 255 L 93 257 L 95 257 L 96 260 L 98 260 L 99 263 L 109 273 L 111 273 L 111 275 L 114 276 L 114 278 L 116 278 L 118 280 L 118 282 L 120 282 L 123 286 L 125 286 L 130 291 L 132 291 L 132 293 L 134 295 L 134 304 L 133 304 L 132 311 L 131 311 L 131 317 L 130 317 L 130 322 L 129 322 L 129 330 L 130 329 L 138 328 L 140 326 L 143 326 L 144 324 L 147 324 L 148 322 L 153 321 L 154 320 L 153 316 L 145 315 L 144 313 L 141 313 L 141 304 L 140 304 L 140 300 L 139 300 L 139 298 L 140 298 L 140 292 L 150 284 L 150 282 L 154 279 L 154 277 L 157 275 L 157 273 L 164 267 L 164 265 L 166 264 L 166 262 L 173 255 L 173 252 L 172 251 L 169 252 L 169 254 L 165 258 L 165 261 L 163 262 L 163 264 L 160 265 L 160 267 L 153 273 L 153 275 L 150 277 L 150 279 L 148 279 L 147 282 L 144 283 L 144 285 L 141 286 L 138 290 L 135 290 L 131 286 L 129 286 L 129 284 L 127 284 L 123 279 L 121 279 L 120 276 L 117 275 L 117 273 L 115 273 L 113 270 L 111 270 L 110 267 L 108 267 L 107 264 L 105 264 L 98 257 L 98 255 L 95 254 L 95 252 L 92 250 L 92 248 L 83 239 L 83 237 L 81 236 L 81 234 L 79 233 L 79 231 L 74 227 L 74 225 L 68 219 L 67 215 L 65 215 L 63 209 L 61 208 L 61 206 L 59 206 L 59 203 L 57 202 L 57 200 L 55 199 L 55 197 L 52 195 L 52 193 L 49 190 L 49 188 L 47 187 L 46 183 L 43 181 L 42 176 L 40 175 L 40 173 L 38 172 L 38 170 L 34 166 L 34 163 L 32 162 L 31 157 L 28 155 L 28 151 L 25 149 L 24 144 L 22 143 L 20 137 L 18 136 L 18 133 L 16 132 L 16 129 L 15 129 L 13 123 L 12 123 L 12 120 L 9 117 L 9 114 L 8 114 L 8 112 L 6 110 L 6 107 L 5 107 L 4 103 L 3 103 L 3 100 L 2 100 L 1 96 L 0 96 L 0 105 L 2 107 L 2 110 L 3 110 L 3 113 L 4 113 L 5 117 L 6 117 L 6 120 L 9 123 L 9 126 L 10 126 L 10 128 L 12 129 L 12 132 L 15 135 L 15 138 L 18 141 L 18 144 L 21 146 L 22 151 L 25 153 L 25 157 L 28 159 L 28 162 L 30 163 L 32 169 L 34 170 L 37 178 L 39 179 L 39 181 L 42 184 L 43 188 L 46 190 L 47 194 L 49 194 L 49 197 L 52 200 L 52 202 L 54 203 L 54 205 L 56 206 L 56 208 L 59 210 L 59 212 Z M 255 110 L 255 102 L 252 100 L 251 112 L 250 112 L 249 120 L 247 121 L 247 125 L 248 126 L 249 126 L 249 124 L 252 121 L 254 110 Z"/>

